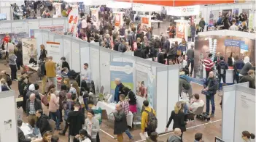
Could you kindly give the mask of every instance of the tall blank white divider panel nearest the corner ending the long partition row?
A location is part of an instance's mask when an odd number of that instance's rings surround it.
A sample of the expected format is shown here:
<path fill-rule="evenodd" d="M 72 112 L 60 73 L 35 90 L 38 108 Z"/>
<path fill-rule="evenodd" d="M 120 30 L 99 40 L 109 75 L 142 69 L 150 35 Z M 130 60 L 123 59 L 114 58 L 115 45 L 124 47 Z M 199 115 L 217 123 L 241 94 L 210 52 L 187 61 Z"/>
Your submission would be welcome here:
<path fill-rule="evenodd" d="M 164 133 L 166 129 L 166 124 L 168 122 L 167 118 L 167 95 L 168 95 L 168 68 L 161 67 L 157 69 L 157 97 L 156 99 L 156 114 L 158 118 L 158 128 L 156 132 Z"/>

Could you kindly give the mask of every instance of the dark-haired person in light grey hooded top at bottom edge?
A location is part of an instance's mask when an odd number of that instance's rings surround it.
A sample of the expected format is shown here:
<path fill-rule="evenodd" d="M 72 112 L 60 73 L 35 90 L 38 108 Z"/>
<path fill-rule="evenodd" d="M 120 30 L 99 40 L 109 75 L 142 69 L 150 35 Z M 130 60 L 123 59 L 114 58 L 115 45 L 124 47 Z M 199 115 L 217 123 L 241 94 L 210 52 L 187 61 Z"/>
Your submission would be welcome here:
<path fill-rule="evenodd" d="M 100 125 L 98 119 L 94 117 L 94 112 L 92 109 L 87 111 L 87 119 L 85 120 L 85 130 L 88 132 L 88 135 L 91 137 L 92 142 L 97 142 L 97 134 L 100 130 Z"/>

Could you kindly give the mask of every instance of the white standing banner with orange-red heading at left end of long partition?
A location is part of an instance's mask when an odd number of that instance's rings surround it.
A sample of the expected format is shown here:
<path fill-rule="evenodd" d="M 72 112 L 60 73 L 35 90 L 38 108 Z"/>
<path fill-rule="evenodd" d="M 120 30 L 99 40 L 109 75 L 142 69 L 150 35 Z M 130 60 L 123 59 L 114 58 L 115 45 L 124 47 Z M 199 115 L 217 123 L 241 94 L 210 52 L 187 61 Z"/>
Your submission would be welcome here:
<path fill-rule="evenodd" d="M 59 61 L 61 59 L 60 43 L 53 41 L 46 41 L 47 56 L 53 57 L 53 61 Z"/>

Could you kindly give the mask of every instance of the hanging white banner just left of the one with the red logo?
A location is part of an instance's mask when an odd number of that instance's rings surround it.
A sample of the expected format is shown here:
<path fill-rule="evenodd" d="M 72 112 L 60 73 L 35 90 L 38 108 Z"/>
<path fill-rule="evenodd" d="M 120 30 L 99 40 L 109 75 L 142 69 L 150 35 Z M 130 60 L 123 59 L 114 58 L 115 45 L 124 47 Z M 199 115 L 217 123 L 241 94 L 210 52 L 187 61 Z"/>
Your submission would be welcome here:
<path fill-rule="evenodd" d="M 138 12 L 160 12 L 163 6 L 152 4 L 136 4 L 133 3 L 133 11 Z"/>

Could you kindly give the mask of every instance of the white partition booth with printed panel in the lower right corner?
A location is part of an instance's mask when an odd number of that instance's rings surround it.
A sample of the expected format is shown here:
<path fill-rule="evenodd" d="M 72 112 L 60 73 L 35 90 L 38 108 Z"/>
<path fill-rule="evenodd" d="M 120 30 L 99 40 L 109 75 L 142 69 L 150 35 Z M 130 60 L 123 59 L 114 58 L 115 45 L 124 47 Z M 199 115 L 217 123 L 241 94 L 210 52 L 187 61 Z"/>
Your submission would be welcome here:
<path fill-rule="evenodd" d="M 244 141 L 244 130 L 255 133 L 255 89 L 249 83 L 223 87 L 222 140 Z"/>

